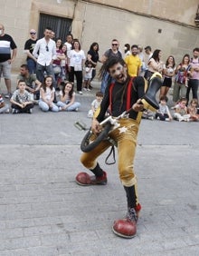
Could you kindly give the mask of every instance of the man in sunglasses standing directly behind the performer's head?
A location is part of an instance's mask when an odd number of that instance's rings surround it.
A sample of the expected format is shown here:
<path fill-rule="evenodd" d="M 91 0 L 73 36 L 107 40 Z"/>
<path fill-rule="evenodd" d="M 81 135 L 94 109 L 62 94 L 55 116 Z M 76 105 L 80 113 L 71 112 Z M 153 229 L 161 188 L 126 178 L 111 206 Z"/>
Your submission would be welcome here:
<path fill-rule="evenodd" d="M 109 48 L 109 50 L 107 50 L 102 55 L 102 58 L 101 58 L 101 63 L 102 64 L 105 64 L 112 57 L 119 57 L 119 58 L 122 59 L 122 54 L 118 50 L 118 46 L 119 46 L 118 40 L 113 39 L 112 42 L 111 42 L 111 48 Z M 110 84 L 113 79 L 111 78 L 111 76 L 109 75 L 108 72 L 103 71 L 102 69 L 100 71 L 100 76 L 102 78 L 101 79 L 101 89 L 100 89 L 100 91 L 101 91 L 102 94 L 104 94 L 107 85 Z"/>

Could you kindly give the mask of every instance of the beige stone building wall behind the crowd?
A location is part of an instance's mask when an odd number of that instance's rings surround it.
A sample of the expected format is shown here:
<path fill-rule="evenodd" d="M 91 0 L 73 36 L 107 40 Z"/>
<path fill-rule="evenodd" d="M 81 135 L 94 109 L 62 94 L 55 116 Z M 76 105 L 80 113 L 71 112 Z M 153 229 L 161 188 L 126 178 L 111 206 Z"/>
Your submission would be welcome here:
<path fill-rule="evenodd" d="M 57 34 L 59 18 L 61 25 L 64 19 L 71 21 L 71 33 L 80 39 L 81 48 L 87 52 L 91 43 L 98 42 L 100 55 L 113 38 L 118 39 L 122 52 L 126 43 L 161 49 L 165 61 L 169 54 L 180 61 L 199 46 L 199 27 L 194 25 L 198 0 L 0 0 L 0 5 L 0 23 L 18 47 L 13 71 L 25 62 L 29 30 L 43 34 L 41 15 L 55 17 Z M 48 25 L 48 19 L 46 22 Z"/>

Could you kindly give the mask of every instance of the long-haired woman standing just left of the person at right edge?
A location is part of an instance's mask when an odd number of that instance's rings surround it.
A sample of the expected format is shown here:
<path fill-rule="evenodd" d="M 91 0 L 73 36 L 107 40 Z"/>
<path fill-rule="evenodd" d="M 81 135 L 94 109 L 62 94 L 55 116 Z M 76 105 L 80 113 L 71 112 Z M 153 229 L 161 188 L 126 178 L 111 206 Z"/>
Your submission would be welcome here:
<path fill-rule="evenodd" d="M 189 54 L 184 55 L 182 62 L 175 69 L 175 74 L 173 102 L 176 103 L 180 98 L 186 96 L 188 74 L 191 74 Z"/>

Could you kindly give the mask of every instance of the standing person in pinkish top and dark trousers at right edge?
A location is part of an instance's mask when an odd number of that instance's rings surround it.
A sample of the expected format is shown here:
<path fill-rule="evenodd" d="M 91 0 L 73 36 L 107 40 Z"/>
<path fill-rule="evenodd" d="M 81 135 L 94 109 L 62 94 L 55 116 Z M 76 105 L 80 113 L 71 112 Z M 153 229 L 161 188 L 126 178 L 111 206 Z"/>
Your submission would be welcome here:
<path fill-rule="evenodd" d="M 189 94 L 192 89 L 193 98 L 197 99 L 197 90 L 199 84 L 199 48 L 194 48 L 193 50 L 193 58 L 190 62 L 191 65 L 191 73 L 189 76 L 188 87 L 186 91 L 186 99 L 187 103 L 189 102 Z"/>

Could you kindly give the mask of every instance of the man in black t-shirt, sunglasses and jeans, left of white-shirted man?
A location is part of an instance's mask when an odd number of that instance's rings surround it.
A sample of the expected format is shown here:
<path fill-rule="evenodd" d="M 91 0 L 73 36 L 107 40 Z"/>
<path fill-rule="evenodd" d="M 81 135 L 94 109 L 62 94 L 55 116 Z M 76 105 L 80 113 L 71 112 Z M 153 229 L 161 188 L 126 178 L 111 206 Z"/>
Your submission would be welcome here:
<path fill-rule="evenodd" d="M 24 53 L 27 54 L 26 63 L 30 74 L 36 73 L 36 58 L 33 56 L 33 48 L 37 42 L 36 30 L 31 29 L 31 37 L 24 44 Z"/>

